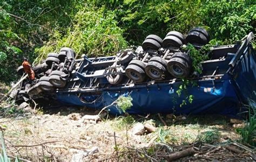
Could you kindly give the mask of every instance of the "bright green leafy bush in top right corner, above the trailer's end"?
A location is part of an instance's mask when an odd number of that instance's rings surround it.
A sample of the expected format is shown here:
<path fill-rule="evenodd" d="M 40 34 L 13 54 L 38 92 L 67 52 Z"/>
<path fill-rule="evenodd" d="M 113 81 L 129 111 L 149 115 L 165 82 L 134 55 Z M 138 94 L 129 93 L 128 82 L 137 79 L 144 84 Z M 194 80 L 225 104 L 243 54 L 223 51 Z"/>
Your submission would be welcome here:
<path fill-rule="evenodd" d="M 254 30 L 256 5 L 246 1 L 204 3 L 198 11 L 201 23 L 210 29 L 213 38 L 231 43 Z"/>

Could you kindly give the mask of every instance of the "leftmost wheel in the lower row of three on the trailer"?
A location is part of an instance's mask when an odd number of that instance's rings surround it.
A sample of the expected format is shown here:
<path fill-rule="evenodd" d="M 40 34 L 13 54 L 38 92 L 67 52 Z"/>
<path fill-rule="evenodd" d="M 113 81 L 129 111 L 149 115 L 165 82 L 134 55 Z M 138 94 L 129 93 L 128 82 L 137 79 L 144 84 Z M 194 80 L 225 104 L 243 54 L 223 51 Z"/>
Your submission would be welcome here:
<path fill-rule="evenodd" d="M 144 69 L 136 64 L 129 64 L 125 69 L 125 74 L 129 79 L 137 83 L 143 82 L 146 78 Z"/>

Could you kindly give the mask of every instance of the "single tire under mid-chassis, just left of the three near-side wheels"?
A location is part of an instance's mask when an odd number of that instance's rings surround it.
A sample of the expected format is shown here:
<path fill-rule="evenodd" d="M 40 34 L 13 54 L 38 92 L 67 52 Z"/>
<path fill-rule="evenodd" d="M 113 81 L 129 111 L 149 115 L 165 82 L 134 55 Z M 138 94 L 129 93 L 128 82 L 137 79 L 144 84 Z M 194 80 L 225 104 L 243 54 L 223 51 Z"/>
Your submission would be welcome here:
<path fill-rule="evenodd" d="M 111 67 L 114 67 L 113 65 Z M 122 67 L 111 68 L 107 70 L 107 73 L 122 72 Z M 119 84 L 123 80 L 123 74 L 110 74 L 106 76 L 107 81 L 110 84 Z"/>

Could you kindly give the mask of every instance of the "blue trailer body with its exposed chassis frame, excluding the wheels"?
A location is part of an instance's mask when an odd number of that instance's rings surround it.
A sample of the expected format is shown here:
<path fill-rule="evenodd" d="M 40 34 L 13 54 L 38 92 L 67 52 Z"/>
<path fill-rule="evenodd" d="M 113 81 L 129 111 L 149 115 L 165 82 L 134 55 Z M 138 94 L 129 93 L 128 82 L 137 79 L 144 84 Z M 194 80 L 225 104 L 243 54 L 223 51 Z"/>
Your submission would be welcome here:
<path fill-rule="evenodd" d="M 107 84 L 105 78 L 93 77 L 95 69 L 104 69 L 101 61 L 112 64 L 115 57 L 87 58 L 77 61 L 65 88 L 57 90 L 57 99 L 62 103 L 102 109 L 119 96 L 131 96 L 130 114 L 222 114 L 235 116 L 248 104 L 256 100 L 256 56 L 250 43 L 249 33 L 240 44 L 217 47 L 211 60 L 202 62 L 203 74 L 190 79 L 179 96 L 177 90 L 181 79 L 165 81 L 147 80 L 133 83 L 126 79 L 122 84 Z M 107 65 L 107 66 L 109 66 Z M 188 96 L 192 95 L 192 102 Z M 184 103 L 184 101 L 186 103 Z M 182 106 L 180 106 L 184 103 Z M 111 114 L 122 114 L 117 105 L 108 108 Z"/>

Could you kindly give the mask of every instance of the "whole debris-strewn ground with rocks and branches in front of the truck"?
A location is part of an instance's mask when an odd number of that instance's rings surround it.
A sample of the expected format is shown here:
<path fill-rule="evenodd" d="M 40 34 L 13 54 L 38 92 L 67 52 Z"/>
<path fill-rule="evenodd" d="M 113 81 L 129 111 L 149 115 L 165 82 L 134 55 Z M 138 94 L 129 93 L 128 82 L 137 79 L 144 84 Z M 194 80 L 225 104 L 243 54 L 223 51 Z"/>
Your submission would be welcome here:
<path fill-rule="evenodd" d="M 255 160 L 255 151 L 235 142 L 240 135 L 225 118 L 109 117 L 71 107 L 34 110 L 25 102 L 1 107 L 8 155 L 27 161 Z"/>

